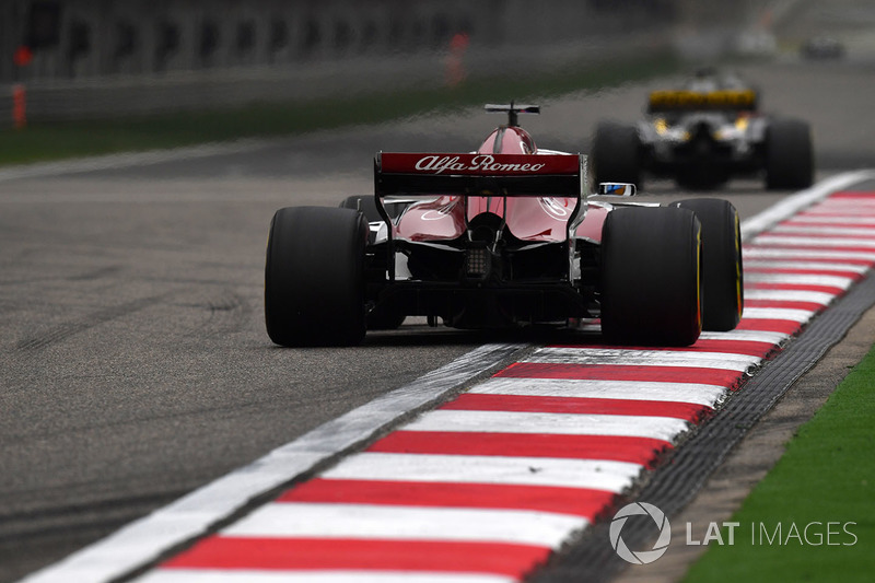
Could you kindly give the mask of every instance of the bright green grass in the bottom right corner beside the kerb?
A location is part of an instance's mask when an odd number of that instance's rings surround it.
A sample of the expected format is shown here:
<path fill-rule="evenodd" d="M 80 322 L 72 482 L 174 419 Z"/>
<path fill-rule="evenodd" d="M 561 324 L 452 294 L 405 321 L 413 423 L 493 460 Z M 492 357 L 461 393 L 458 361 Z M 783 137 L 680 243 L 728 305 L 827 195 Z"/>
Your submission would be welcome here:
<path fill-rule="evenodd" d="M 733 546 L 712 543 L 685 581 L 873 581 L 875 578 L 875 347 L 845 377 L 732 521 Z M 795 523 L 812 543 L 788 543 Z M 840 523 L 829 527 L 827 523 Z M 782 525 L 782 545 L 760 537 Z M 847 523 L 855 523 L 848 525 Z M 751 525 L 755 532 L 751 538 Z M 827 529 L 838 533 L 827 545 Z M 703 527 L 700 528 L 703 532 Z M 847 530 L 853 533 L 849 535 Z M 791 532 L 792 534 L 792 532 Z M 722 533 L 727 540 L 727 532 Z M 698 538 L 701 538 L 701 534 Z M 754 544 L 751 544 L 751 541 Z"/>

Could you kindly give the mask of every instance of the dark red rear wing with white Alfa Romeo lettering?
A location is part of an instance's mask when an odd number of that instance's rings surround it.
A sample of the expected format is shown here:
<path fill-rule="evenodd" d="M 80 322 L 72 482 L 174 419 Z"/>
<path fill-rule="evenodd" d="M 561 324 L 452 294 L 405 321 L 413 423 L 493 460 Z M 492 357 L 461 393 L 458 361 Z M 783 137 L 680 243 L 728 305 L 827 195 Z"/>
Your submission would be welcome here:
<path fill-rule="evenodd" d="M 380 152 L 374 193 L 539 197 L 585 195 L 585 158 L 570 154 L 423 154 Z"/>

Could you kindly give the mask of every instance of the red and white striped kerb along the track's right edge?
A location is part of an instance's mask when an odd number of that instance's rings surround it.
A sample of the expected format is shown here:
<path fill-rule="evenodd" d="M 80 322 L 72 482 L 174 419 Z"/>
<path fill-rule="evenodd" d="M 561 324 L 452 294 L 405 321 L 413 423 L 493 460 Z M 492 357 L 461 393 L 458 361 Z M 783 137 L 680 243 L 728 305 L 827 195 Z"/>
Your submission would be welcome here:
<path fill-rule="evenodd" d="M 522 579 L 875 264 L 875 232 L 814 221 L 847 218 L 875 226 L 875 194 L 835 194 L 745 245 L 737 330 L 682 349 L 538 349 L 143 581 Z"/>

